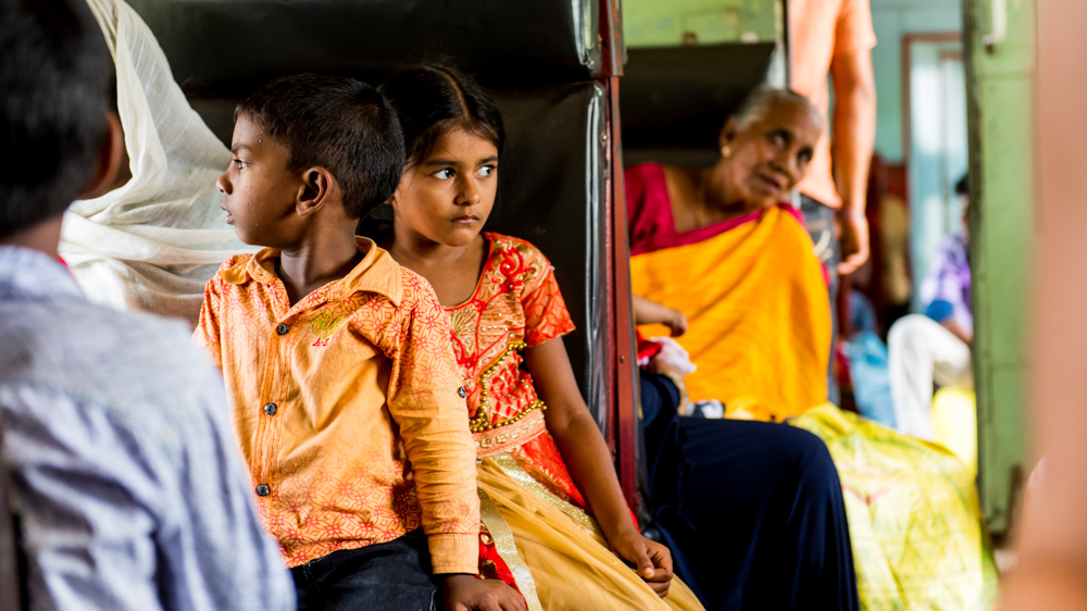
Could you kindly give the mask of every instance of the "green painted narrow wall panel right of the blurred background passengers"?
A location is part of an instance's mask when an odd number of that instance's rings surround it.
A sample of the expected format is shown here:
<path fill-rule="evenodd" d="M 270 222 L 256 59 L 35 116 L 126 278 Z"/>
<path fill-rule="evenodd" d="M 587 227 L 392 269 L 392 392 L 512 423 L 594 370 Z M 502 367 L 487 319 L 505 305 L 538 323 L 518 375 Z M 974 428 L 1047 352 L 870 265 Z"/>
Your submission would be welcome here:
<path fill-rule="evenodd" d="M 1008 0 L 992 47 L 992 0 L 967 0 L 971 265 L 978 490 L 994 532 L 1010 525 L 1026 457 L 1027 296 L 1034 217 L 1035 4 Z"/>

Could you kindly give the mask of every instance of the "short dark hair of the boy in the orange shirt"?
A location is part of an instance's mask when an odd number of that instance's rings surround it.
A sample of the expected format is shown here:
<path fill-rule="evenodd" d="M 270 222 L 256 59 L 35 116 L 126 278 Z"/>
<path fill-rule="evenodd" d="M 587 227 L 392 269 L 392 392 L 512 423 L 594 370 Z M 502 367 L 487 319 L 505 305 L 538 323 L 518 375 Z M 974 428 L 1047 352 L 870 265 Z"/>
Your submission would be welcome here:
<path fill-rule="evenodd" d="M 400 184 L 404 142 L 388 100 L 370 85 L 341 76 L 298 74 L 265 84 L 234 112 L 283 145 L 287 169 L 321 166 L 343 190 L 343 207 L 362 219 Z"/>

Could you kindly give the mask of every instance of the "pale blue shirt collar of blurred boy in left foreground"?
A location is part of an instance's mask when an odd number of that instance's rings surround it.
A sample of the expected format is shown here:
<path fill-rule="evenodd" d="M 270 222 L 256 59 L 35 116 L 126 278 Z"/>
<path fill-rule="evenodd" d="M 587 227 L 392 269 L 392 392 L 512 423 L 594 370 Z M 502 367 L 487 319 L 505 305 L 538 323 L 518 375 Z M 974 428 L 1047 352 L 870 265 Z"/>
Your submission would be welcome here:
<path fill-rule="evenodd" d="M 22 246 L 0 246 L 0 298 L 83 297 L 60 261 Z"/>

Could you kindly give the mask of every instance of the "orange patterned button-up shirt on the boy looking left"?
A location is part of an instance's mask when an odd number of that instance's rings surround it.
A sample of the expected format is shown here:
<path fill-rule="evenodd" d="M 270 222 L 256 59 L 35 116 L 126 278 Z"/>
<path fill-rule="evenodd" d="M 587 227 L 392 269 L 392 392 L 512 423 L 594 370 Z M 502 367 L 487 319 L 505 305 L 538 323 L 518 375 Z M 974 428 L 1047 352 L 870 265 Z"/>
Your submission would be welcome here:
<path fill-rule="evenodd" d="M 279 252 L 227 260 L 195 338 L 223 370 L 258 504 L 297 566 L 423 526 L 435 573 L 476 573 L 475 451 L 449 324 L 388 252 L 290 306 Z"/>

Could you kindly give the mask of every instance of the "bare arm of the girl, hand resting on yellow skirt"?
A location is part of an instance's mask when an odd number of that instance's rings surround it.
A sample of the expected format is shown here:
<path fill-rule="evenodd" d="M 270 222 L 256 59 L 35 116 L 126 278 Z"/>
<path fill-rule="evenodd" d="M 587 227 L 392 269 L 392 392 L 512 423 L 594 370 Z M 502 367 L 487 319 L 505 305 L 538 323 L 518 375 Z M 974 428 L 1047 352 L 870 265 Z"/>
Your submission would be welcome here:
<path fill-rule="evenodd" d="M 666 547 L 641 536 L 630 520 L 611 452 L 585 407 L 562 338 L 526 348 L 525 363 L 537 394 L 547 404 L 544 413 L 548 432 L 608 544 L 635 565 L 658 595 L 666 596 L 672 582 L 672 554 Z"/>

